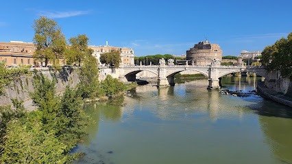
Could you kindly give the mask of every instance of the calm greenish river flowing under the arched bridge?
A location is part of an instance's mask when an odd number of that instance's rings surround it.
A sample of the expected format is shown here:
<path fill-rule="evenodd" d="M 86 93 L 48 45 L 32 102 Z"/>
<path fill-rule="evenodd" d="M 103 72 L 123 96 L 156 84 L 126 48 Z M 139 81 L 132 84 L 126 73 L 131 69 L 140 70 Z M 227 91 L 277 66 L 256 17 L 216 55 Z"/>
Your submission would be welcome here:
<path fill-rule="evenodd" d="M 257 77 L 223 77 L 229 90 L 256 90 Z M 207 79 L 84 105 L 96 124 L 74 163 L 292 163 L 292 109 L 250 94 L 207 90 Z"/>

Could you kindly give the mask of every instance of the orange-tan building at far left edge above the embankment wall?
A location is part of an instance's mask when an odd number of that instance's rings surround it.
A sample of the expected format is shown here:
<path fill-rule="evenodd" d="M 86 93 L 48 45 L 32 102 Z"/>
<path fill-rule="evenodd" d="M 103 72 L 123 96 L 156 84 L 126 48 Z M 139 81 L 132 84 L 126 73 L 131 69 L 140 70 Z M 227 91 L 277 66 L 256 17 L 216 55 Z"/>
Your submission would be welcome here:
<path fill-rule="evenodd" d="M 35 50 L 32 42 L 0 42 L 0 61 L 5 61 L 7 66 L 34 65 L 32 55 Z"/>

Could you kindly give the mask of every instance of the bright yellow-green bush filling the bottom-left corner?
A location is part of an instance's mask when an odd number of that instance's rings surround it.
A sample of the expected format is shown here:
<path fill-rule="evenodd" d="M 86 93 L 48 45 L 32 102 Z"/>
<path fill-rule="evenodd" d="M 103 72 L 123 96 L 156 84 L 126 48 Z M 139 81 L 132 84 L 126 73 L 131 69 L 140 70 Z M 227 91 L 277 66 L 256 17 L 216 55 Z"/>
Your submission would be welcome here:
<path fill-rule="evenodd" d="M 9 137 L 1 156 L 2 163 L 69 163 L 64 154 L 66 145 L 52 133 L 42 131 L 39 122 L 12 122 L 8 128 Z"/>

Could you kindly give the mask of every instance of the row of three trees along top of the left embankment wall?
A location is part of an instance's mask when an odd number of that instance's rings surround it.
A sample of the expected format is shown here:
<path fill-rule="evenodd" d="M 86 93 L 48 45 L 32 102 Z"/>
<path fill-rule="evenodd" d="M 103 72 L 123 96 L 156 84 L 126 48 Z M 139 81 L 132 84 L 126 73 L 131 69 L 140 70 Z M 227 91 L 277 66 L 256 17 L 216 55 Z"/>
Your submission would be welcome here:
<path fill-rule="evenodd" d="M 36 51 L 34 52 L 35 61 L 45 62 L 45 66 L 49 63 L 53 68 L 60 69 L 60 60 L 66 60 L 67 65 L 76 64 L 81 66 L 84 60 L 93 59 L 93 49 L 88 48 L 89 38 L 86 34 L 78 34 L 69 38 L 69 44 L 58 26 L 58 23 L 45 16 L 40 16 L 34 20 L 34 44 Z M 114 55 L 113 55 L 114 54 Z M 121 62 L 121 53 L 119 51 L 111 51 L 101 55 L 101 63 L 119 67 Z M 84 62 L 83 62 L 84 63 Z"/>

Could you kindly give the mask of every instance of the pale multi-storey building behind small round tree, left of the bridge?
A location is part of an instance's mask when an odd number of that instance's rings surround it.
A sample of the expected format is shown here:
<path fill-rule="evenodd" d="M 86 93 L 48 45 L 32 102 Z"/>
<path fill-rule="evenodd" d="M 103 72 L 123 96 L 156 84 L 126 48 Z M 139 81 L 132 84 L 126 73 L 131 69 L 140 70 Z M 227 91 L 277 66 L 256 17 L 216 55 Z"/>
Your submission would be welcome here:
<path fill-rule="evenodd" d="M 108 46 L 108 42 L 106 42 L 106 46 L 88 46 L 90 49 L 93 49 L 93 56 L 97 58 L 99 62 L 99 66 L 101 66 L 100 62 L 100 54 L 101 53 L 109 53 L 112 50 L 120 51 L 121 53 L 121 64 L 123 65 L 134 65 L 134 51 L 133 49 L 127 49 L 125 47 L 116 47 L 116 46 Z"/>

